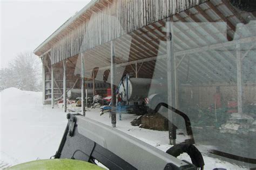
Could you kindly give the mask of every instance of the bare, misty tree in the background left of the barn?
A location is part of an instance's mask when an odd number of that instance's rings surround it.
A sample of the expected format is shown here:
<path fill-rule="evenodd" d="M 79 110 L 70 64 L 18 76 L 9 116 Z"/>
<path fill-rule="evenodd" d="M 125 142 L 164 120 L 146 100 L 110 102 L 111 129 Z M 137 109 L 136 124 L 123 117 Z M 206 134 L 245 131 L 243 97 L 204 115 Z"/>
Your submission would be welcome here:
<path fill-rule="evenodd" d="M 32 52 L 19 53 L 8 65 L 0 70 L 0 90 L 16 87 L 27 91 L 41 90 L 41 61 Z"/>

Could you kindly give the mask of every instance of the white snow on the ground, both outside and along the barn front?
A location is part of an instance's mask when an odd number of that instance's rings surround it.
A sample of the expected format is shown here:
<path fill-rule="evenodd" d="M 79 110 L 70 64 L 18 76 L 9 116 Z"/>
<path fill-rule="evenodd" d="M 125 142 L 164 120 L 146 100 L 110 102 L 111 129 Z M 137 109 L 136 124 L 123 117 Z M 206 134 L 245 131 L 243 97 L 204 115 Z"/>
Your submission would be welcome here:
<path fill-rule="evenodd" d="M 60 139 L 66 126 L 66 113 L 62 108 L 42 105 L 41 92 L 21 91 L 9 88 L 0 92 L 1 126 L 0 126 L 0 163 L 16 165 L 22 162 L 48 159 L 57 151 Z M 111 126 L 109 114 L 99 115 L 99 109 L 88 110 L 86 117 L 98 120 Z M 117 129 L 132 135 L 162 151 L 170 148 L 168 133 L 146 130 L 130 125 L 136 115 L 123 114 L 117 120 Z M 205 151 L 203 146 L 197 146 Z M 206 156 L 205 169 L 226 168 L 245 169 L 219 159 Z M 188 155 L 180 155 L 180 159 L 190 161 Z M 0 164 L 1 169 L 1 164 Z"/>

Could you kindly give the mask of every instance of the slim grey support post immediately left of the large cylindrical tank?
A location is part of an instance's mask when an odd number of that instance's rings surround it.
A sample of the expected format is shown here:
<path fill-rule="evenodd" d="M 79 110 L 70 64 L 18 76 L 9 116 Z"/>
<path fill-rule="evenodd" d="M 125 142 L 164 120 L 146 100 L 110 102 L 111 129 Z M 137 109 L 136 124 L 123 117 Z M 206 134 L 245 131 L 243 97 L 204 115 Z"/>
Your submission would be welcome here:
<path fill-rule="evenodd" d="M 115 58 L 114 58 L 114 42 L 111 41 L 111 68 L 110 68 L 110 73 L 111 73 L 111 96 L 112 96 L 112 109 L 111 109 L 111 124 L 112 127 L 116 127 L 117 123 L 117 118 L 116 118 L 116 88 L 114 86 L 115 79 L 116 79 L 116 63 L 115 63 Z"/>

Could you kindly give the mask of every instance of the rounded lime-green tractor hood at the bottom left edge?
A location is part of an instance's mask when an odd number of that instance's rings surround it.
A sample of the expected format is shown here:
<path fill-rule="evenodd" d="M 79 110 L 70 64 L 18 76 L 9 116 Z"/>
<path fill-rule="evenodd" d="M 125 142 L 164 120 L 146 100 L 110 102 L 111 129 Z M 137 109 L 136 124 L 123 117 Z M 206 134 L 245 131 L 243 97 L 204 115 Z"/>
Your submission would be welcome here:
<path fill-rule="evenodd" d="M 34 169 L 95 169 L 102 170 L 104 168 L 99 167 L 95 164 L 89 162 L 74 160 L 74 159 L 45 159 L 45 160 L 36 160 L 31 162 L 26 162 L 23 164 L 15 165 L 9 168 L 8 170 L 34 170 Z"/>

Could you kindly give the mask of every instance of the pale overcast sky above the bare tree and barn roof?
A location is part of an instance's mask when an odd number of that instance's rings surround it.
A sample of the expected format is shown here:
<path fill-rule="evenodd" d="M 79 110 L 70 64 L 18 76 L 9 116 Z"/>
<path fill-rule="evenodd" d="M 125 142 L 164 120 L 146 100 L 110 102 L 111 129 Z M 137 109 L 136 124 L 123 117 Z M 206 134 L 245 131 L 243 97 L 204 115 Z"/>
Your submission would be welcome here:
<path fill-rule="evenodd" d="M 19 52 L 35 50 L 90 0 L 0 2 L 0 62 L 1 67 L 6 67 Z"/>

